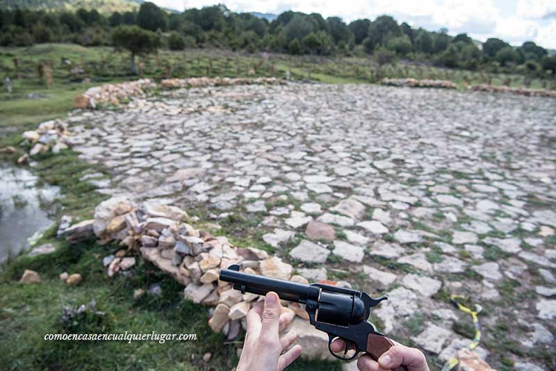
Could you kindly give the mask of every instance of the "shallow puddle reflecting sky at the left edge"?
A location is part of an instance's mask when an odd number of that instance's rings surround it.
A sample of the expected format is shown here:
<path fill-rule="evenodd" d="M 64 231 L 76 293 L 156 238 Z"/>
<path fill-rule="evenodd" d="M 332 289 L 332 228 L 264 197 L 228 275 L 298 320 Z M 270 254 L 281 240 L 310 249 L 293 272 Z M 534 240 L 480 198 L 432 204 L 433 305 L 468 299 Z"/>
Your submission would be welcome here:
<path fill-rule="evenodd" d="M 38 188 L 37 180 L 22 167 L 0 162 L 0 264 L 29 247 L 35 232 L 54 223 L 44 206 L 54 201 L 59 189 Z"/>

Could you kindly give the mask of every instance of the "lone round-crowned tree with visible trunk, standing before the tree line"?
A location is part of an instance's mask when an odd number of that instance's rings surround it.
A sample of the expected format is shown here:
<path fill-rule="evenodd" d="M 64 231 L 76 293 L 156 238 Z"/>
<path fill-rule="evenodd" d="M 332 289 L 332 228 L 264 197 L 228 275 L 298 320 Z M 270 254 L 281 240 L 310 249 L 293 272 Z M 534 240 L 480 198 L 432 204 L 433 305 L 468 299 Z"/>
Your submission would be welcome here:
<path fill-rule="evenodd" d="M 158 35 L 138 26 L 118 26 L 112 34 L 115 47 L 127 49 L 131 53 L 129 68 L 135 73 L 135 56 L 153 53 L 160 47 Z"/>

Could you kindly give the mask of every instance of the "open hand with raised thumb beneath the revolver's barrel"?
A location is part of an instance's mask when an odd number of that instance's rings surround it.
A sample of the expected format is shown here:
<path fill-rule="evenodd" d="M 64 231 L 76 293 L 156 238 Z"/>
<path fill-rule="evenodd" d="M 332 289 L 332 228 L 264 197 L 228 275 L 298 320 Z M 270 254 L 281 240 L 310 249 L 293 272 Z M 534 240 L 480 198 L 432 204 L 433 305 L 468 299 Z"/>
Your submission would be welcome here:
<path fill-rule="evenodd" d="M 280 315 L 280 308 L 276 292 L 268 292 L 265 299 L 247 313 L 247 333 L 236 371 L 281 371 L 300 356 L 300 345 L 285 352 L 297 339 L 297 334 L 290 331 L 279 336 L 293 320 L 291 313 Z"/>

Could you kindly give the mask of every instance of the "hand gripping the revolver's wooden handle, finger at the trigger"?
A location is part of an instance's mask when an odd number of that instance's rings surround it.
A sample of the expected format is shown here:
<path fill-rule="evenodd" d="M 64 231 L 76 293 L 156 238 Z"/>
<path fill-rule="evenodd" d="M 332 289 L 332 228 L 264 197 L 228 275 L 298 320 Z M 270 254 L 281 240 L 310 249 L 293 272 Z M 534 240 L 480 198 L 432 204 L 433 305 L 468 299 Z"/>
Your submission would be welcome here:
<path fill-rule="evenodd" d="M 361 371 L 386 371 L 405 366 L 407 371 L 430 371 L 425 354 L 417 348 L 406 347 L 393 341 L 394 346 L 384 352 L 377 361 L 373 361 L 368 354 L 363 354 L 357 361 L 357 368 Z M 330 345 L 332 352 L 341 352 L 345 348 L 342 339 L 336 339 Z"/>

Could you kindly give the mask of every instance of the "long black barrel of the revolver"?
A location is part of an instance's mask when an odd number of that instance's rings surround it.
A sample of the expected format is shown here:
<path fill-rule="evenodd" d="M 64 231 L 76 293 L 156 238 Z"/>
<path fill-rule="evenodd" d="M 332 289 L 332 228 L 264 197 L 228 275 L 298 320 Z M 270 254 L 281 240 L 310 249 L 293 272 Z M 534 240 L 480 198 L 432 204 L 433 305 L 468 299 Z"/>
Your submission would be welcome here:
<path fill-rule="evenodd" d="M 234 289 L 241 292 L 252 292 L 256 295 L 266 295 L 274 291 L 280 299 L 304 304 L 307 299 L 318 300 L 320 288 L 302 285 L 282 279 L 271 279 L 255 274 L 238 272 L 236 270 L 220 270 L 220 280 L 234 284 Z"/>

